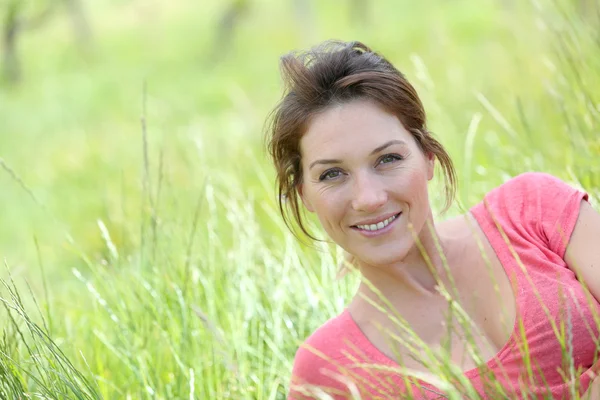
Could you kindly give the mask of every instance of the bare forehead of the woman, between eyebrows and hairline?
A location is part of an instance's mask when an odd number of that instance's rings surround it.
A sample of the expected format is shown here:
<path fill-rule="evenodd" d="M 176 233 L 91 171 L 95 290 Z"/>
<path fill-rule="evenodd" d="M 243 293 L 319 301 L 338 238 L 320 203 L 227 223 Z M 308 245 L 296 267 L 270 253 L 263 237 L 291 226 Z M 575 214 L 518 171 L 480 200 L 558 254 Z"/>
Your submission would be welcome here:
<path fill-rule="evenodd" d="M 370 152 L 383 142 L 412 135 L 400 120 L 369 100 L 336 104 L 319 113 L 308 124 L 300 140 L 303 159 L 321 158 L 340 152 Z"/>

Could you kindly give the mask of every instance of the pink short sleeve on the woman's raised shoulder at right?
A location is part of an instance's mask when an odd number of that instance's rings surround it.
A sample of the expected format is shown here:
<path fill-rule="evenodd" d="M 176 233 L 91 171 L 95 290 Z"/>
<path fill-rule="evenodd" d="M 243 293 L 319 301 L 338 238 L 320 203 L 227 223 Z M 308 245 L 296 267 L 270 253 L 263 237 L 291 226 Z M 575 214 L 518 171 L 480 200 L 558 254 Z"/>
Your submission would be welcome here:
<path fill-rule="evenodd" d="M 564 259 L 582 200 L 588 195 L 561 179 L 527 172 L 506 182 L 486 196 L 496 204 L 501 218 Z M 491 201 L 490 201 L 491 200 Z"/>

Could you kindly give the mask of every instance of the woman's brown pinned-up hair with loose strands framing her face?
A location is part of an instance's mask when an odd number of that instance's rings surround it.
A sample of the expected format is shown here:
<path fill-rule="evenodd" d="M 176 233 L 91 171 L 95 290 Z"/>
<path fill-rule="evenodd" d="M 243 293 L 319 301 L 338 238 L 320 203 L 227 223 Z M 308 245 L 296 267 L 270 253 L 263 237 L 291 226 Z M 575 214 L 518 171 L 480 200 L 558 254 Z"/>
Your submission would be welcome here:
<path fill-rule="evenodd" d="M 281 57 L 284 96 L 270 114 L 268 151 L 275 164 L 281 215 L 294 233 L 315 239 L 302 221 L 298 186 L 302 183 L 300 139 L 311 118 L 334 104 L 370 99 L 396 115 L 425 154 L 440 162 L 447 210 L 456 192 L 456 172 L 444 147 L 426 128 L 423 104 L 404 75 L 360 42 L 327 41 L 304 53 Z"/>

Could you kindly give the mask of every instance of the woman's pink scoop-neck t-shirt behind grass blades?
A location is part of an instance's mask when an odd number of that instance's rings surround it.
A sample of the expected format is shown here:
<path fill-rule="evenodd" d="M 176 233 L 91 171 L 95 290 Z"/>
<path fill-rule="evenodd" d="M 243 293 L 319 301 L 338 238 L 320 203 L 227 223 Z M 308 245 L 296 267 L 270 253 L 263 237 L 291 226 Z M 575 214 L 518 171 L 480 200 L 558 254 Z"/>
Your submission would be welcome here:
<path fill-rule="evenodd" d="M 511 399 L 549 394 L 571 399 L 572 390 L 585 392 L 588 372 L 597 370 L 599 333 L 593 315 L 600 315 L 600 304 L 593 301 L 588 306 L 581 284 L 564 261 L 581 200 L 587 200 L 585 193 L 551 175 L 525 173 L 492 190 L 471 209 L 516 288 L 517 319 L 510 339 L 482 366 L 496 376 Z M 559 336 L 567 338 L 562 346 L 548 315 Z M 524 351 L 529 352 L 530 365 L 524 363 Z M 302 394 L 303 385 L 318 386 L 335 399 L 351 399 L 352 393 L 363 399 L 398 399 L 411 389 L 400 374 L 389 371 L 397 367 L 365 337 L 346 309 L 298 349 L 288 399 L 318 398 Z M 499 398 L 484 388 L 479 369 L 464 375 L 484 398 Z M 417 399 L 442 398 L 427 384 L 413 387 L 412 392 Z"/>

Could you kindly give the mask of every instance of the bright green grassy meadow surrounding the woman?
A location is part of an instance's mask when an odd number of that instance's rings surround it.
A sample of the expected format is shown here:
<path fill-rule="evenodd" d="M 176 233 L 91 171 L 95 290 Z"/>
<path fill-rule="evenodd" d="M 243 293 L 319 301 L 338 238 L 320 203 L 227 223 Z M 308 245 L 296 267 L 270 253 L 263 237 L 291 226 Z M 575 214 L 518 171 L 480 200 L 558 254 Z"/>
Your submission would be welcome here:
<path fill-rule="evenodd" d="M 278 214 L 289 51 L 360 40 L 407 75 L 458 170 L 439 218 L 532 170 L 600 199 L 600 19 L 573 1 L 255 0 L 230 36 L 226 2 L 85 4 L 85 48 L 59 13 L 0 86 L 2 399 L 285 398 L 358 282 Z"/>

